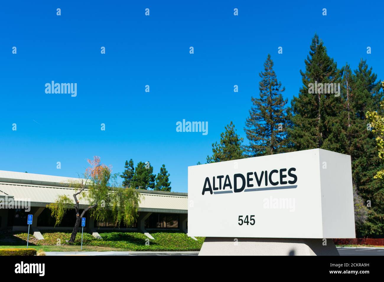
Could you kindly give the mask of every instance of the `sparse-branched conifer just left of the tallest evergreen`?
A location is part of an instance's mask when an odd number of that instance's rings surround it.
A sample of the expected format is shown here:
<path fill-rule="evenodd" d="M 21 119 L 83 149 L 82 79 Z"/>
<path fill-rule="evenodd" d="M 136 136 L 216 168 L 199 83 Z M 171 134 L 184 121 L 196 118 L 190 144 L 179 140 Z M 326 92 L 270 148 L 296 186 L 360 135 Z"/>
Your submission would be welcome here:
<path fill-rule="evenodd" d="M 283 99 L 285 88 L 277 81 L 270 54 L 259 74 L 260 98 L 252 97 L 252 107 L 245 123 L 249 145 L 245 151 L 251 157 L 282 153 L 288 150 L 285 139 L 288 120 Z"/>

